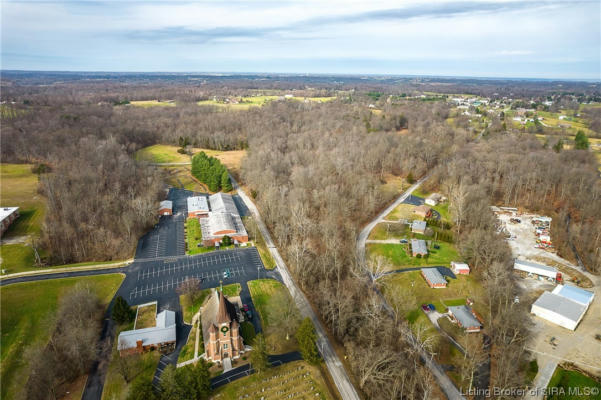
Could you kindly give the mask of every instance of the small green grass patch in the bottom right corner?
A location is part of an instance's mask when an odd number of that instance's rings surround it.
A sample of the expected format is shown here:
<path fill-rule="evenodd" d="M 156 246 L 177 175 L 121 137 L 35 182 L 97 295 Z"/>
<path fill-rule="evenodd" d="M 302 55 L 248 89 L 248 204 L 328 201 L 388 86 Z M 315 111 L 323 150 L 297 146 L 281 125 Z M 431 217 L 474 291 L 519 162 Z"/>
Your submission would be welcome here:
<path fill-rule="evenodd" d="M 557 394 L 550 394 L 548 396 L 549 400 L 601 399 L 601 394 L 599 394 L 601 392 L 601 383 L 581 374 L 580 372 L 569 371 L 561 367 L 557 367 L 555 369 L 553 377 L 551 377 L 551 381 L 549 382 L 549 386 L 547 388 L 557 388 L 558 390 Z M 576 392 L 572 392 L 572 394 L 570 394 L 570 389 Z M 596 394 L 591 393 L 591 389 L 596 390 Z"/>

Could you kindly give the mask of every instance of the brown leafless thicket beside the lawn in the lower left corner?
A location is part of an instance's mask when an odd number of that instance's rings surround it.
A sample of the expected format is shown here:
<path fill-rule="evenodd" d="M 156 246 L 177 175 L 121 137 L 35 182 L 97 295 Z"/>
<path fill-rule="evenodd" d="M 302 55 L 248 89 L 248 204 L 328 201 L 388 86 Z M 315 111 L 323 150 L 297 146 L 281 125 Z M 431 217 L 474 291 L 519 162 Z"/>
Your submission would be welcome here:
<path fill-rule="evenodd" d="M 18 398 L 46 400 L 64 395 L 66 385 L 85 375 L 98 351 L 103 307 L 88 286 L 76 285 L 59 303 L 54 331 L 42 347 L 28 348 L 29 378 Z"/>

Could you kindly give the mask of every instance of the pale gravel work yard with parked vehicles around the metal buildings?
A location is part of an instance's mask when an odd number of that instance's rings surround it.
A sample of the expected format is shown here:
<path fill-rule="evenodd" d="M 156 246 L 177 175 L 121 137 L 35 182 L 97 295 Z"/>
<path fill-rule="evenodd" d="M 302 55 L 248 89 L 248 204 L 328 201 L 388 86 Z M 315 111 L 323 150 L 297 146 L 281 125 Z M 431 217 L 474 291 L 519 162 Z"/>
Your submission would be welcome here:
<path fill-rule="evenodd" d="M 537 236 L 536 219 L 538 216 L 517 211 L 496 211 L 501 222 L 501 230 L 508 236 L 507 240 L 515 258 L 555 267 L 561 271 L 564 282 L 568 285 L 578 284 L 595 294 L 595 299 L 575 331 L 531 315 L 532 335 L 526 348 L 533 354 L 539 365 L 535 384 L 539 387 L 546 387 L 555 367 L 565 362 L 575 364 L 593 375 L 601 376 L 601 365 L 599 364 L 601 342 L 595 338 L 596 335 L 601 334 L 601 277 L 573 265 L 557 255 L 553 248 L 541 246 L 541 235 L 551 232 L 542 232 Z M 512 219 L 513 221 L 511 221 Z M 532 223 L 533 219 L 535 224 Z M 551 229 L 550 226 L 549 231 Z M 543 291 L 552 290 L 555 287 L 554 283 L 547 280 L 531 278 L 519 278 L 518 284 L 522 289 L 519 293 L 520 301 L 525 302 L 528 306 Z"/>

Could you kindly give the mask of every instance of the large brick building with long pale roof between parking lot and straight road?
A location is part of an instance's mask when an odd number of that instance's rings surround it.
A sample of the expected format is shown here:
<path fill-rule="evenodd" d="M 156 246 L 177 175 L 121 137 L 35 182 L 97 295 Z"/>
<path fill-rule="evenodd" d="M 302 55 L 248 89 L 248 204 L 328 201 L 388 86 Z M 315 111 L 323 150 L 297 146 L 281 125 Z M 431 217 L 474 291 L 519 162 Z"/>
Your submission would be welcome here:
<path fill-rule="evenodd" d="M 248 242 L 248 233 L 232 195 L 216 193 L 209 197 L 209 203 L 208 217 L 200 220 L 203 245 L 215 246 L 226 235 L 238 243 Z"/>

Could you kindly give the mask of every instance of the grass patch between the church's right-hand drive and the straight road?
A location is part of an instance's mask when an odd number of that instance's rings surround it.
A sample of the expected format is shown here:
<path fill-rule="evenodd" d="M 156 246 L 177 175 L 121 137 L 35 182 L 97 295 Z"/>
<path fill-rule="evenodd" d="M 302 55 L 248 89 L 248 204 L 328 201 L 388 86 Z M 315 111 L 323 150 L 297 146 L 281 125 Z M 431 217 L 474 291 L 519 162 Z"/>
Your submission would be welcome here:
<path fill-rule="evenodd" d="M 291 336 L 290 340 L 286 340 L 285 334 L 276 329 L 274 323 L 270 320 L 270 315 L 273 315 L 277 309 L 272 297 L 279 291 L 288 294 L 286 287 L 273 279 L 259 279 L 248 282 L 248 288 L 253 304 L 261 317 L 268 352 L 270 354 L 282 354 L 297 350 L 296 339 Z"/>

